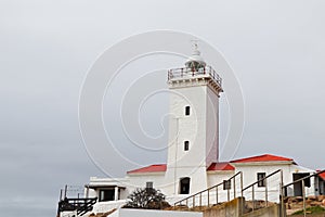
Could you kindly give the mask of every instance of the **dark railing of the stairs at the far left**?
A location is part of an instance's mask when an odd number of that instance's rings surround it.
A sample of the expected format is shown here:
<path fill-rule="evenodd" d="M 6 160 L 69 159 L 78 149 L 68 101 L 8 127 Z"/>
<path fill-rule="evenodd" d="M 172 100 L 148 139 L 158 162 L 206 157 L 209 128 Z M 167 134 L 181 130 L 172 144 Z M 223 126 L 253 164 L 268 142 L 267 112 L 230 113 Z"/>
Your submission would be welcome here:
<path fill-rule="evenodd" d="M 98 197 L 92 199 L 67 199 L 61 200 L 57 207 L 57 216 L 61 212 L 77 210 L 78 216 L 92 210 L 93 205 L 96 203 Z"/>

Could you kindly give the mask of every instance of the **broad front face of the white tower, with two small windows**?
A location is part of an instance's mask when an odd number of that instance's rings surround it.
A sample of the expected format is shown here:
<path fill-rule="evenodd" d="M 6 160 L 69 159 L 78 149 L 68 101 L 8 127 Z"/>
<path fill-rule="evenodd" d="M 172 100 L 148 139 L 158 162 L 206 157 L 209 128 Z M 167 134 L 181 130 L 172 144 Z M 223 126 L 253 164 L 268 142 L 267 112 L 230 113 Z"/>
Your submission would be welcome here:
<path fill-rule="evenodd" d="M 191 82 L 192 84 L 192 82 Z M 193 85 L 193 84 L 192 84 Z M 166 183 L 167 194 L 179 193 L 181 178 L 188 177 L 190 193 L 207 187 L 206 178 L 206 87 L 190 86 L 172 89 L 170 95 L 169 142 Z M 185 106 L 191 106 L 185 115 Z M 184 150 L 190 141 L 190 150 Z"/>

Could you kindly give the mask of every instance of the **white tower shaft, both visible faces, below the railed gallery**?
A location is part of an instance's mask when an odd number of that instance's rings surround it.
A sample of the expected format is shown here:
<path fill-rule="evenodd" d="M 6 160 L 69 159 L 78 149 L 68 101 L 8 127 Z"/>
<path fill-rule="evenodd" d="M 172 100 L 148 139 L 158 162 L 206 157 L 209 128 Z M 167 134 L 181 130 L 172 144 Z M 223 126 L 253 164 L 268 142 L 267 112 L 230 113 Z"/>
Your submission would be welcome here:
<path fill-rule="evenodd" d="M 173 183 L 167 194 L 179 193 L 181 178 L 191 179 L 190 194 L 206 189 L 206 168 L 218 159 L 218 93 L 206 79 L 184 79 L 170 84 L 171 114 L 169 119 L 169 148 L 166 182 Z M 185 106 L 191 114 L 185 115 Z M 184 150 L 190 141 L 190 150 Z"/>

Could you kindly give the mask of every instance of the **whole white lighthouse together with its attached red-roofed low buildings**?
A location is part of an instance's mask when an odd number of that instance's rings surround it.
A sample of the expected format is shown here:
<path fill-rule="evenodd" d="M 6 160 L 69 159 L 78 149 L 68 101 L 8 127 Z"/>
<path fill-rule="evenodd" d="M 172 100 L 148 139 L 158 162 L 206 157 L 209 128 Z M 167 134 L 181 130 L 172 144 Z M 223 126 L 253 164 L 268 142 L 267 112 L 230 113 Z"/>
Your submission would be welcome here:
<path fill-rule="evenodd" d="M 283 170 L 284 183 L 314 173 L 291 158 L 269 154 L 225 163 L 218 161 L 221 78 L 206 65 L 197 48 L 185 67 L 168 72 L 168 85 L 177 94 L 170 97 L 169 104 L 174 116 L 169 119 L 167 164 L 138 168 L 121 179 L 90 178 L 86 194 L 99 197 L 95 212 L 122 205 L 135 188 L 158 189 L 172 203 L 221 183 L 238 171 L 243 173 L 244 187 L 277 169 Z M 278 191 L 278 177 L 270 180 L 269 190 Z M 264 187 L 261 182 L 258 190 L 263 192 Z M 316 190 L 312 181 L 309 191 Z M 301 186 L 289 187 L 287 193 L 300 195 Z M 225 199 L 225 192 L 220 196 Z"/>

